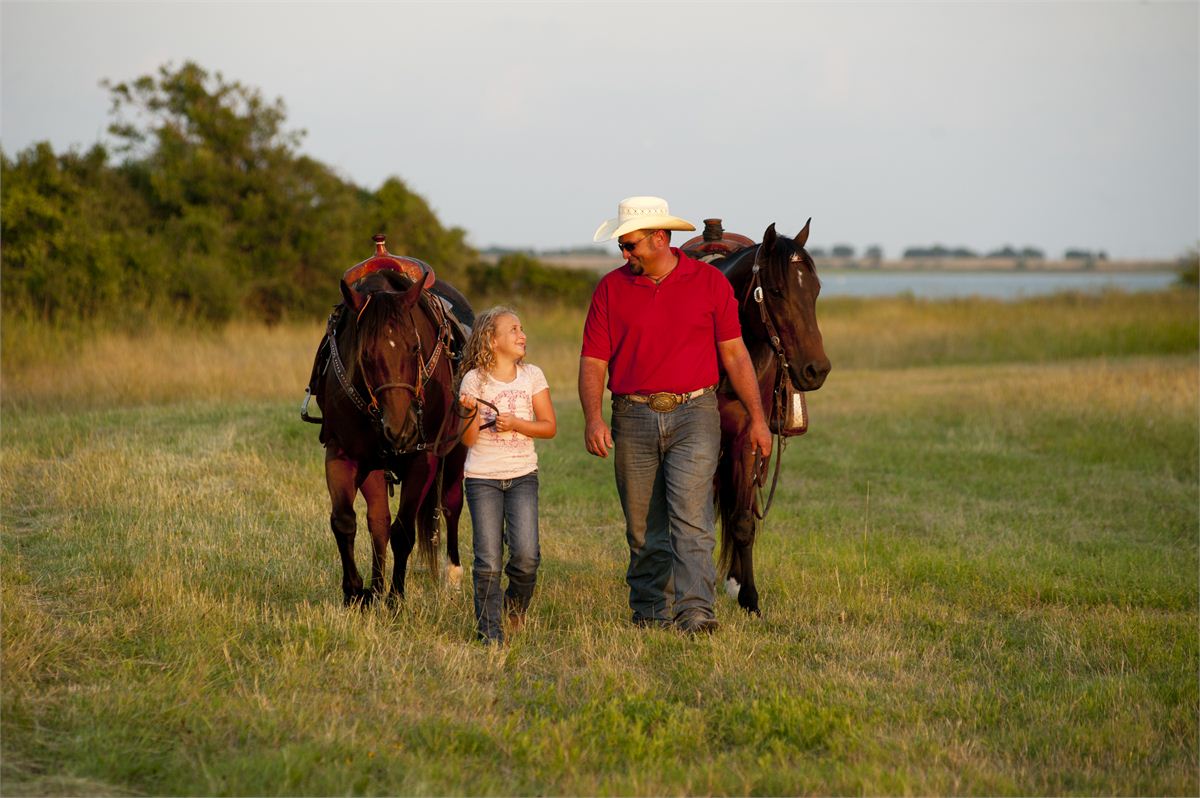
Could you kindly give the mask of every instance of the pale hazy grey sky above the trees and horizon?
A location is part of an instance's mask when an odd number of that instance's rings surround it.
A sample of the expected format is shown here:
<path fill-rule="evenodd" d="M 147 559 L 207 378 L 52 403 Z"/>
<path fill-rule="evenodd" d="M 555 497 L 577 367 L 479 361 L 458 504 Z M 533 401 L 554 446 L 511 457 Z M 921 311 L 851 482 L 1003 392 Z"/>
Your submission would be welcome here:
<path fill-rule="evenodd" d="M 1196 2 L 5 0 L 0 36 L 10 157 L 102 140 L 101 79 L 193 60 L 480 247 L 590 244 L 631 194 L 888 256 L 1200 239 Z"/>

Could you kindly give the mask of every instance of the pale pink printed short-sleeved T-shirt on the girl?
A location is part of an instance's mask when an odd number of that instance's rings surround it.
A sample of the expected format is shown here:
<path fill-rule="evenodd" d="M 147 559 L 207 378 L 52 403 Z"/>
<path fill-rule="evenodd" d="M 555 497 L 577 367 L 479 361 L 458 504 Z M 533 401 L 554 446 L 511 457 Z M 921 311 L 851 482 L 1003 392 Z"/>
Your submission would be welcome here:
<path fill-rule="evenodd" d="M 491 374 L 472 368 L 462 378 L 460 390 L 476 398 L 484 398 L 518 419 L 534 421 L 533 397 L 550 385 L 541 368 L 530 364 L 517 366 L 517 376 L 511 383 L 502 383 Z M 496 418 L 496 410 L 479 406 L 481 424 Z M 479 431 L 475 445 L 467 450 L 464 474 L 480 479 L 516 479 L 538 468 L 538 452 L 533 438 L 515 430 L 497 432 L 496 427 Z"/>

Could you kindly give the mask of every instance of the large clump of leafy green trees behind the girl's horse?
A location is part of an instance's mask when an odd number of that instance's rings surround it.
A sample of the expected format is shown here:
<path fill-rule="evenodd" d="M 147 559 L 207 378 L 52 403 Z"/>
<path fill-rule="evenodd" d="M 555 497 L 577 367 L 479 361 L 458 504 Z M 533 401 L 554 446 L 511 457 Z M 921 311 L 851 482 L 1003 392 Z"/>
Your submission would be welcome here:
<path fill-rule="evenodd" d="M 2 302 L 42 318 L 223 322 L 328 312 L 337 280 L 389 248 L 464 278 L 475 253 L 398 178 L 377 192 L 302 156 L 282 100 L 186 62 L 112 96 L 113 155 L 2 152 Z"/>

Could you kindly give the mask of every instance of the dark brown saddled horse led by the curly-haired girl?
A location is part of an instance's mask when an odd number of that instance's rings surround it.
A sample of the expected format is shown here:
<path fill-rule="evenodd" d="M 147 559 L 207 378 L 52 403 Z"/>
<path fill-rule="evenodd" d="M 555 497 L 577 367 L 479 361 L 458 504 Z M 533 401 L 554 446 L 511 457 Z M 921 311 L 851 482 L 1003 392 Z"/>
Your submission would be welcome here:
<path fill-rule="evenodd" d="M 434 281 L 432 271 L 415 275 L 416 280 L 412 272 L 392 270 L 360 274 L 362 270 L 350 270 L 347 280 L 353 282 L 342 282 L 344 301 L 330 318 L 313 390 L 323 416 L 320 440 L 332 504 L 329 523 L 342 559 L 347 605 L 368 604 L 383 593 L 389 542 L 395 560 L 389 599 L 404 594 L 408 556 L 415 542 L 436 575 L 439 516 L 445 520 L 450 576 L 457 578 L 462 572 L 458 518 L 467 451 L 460 443 L 454 382 L 454 350 L 461 346 L 461 335 L 438 295 L 452 304 L 460 322 L 469 325 L 474 320 L 467 300 Z M 306 416 L 304 410 L 301 415 Z M 389 484 L 397 482 L 400 505 L 392 521 Z M 371 534 L 371 583 L 366 589 L 354 563 L 354 498 L 359 492 L 366 500 Z"/>

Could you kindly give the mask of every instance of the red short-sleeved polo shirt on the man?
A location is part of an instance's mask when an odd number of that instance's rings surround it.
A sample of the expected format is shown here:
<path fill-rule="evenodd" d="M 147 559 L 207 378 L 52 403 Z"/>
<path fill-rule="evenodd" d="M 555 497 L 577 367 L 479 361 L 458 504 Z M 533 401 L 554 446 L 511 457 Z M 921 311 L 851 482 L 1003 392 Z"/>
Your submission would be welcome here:
<path fill-rule="evenodd" d="M 626 262 L 592 295 L 582 354 L 607 361 L 613 394 L 684 394 L 713 385 L 716 343 L 742 336 L 725 275 L 676 247 L 671 252 L 679 265 L 661 284 L 635 276 Z"/>

